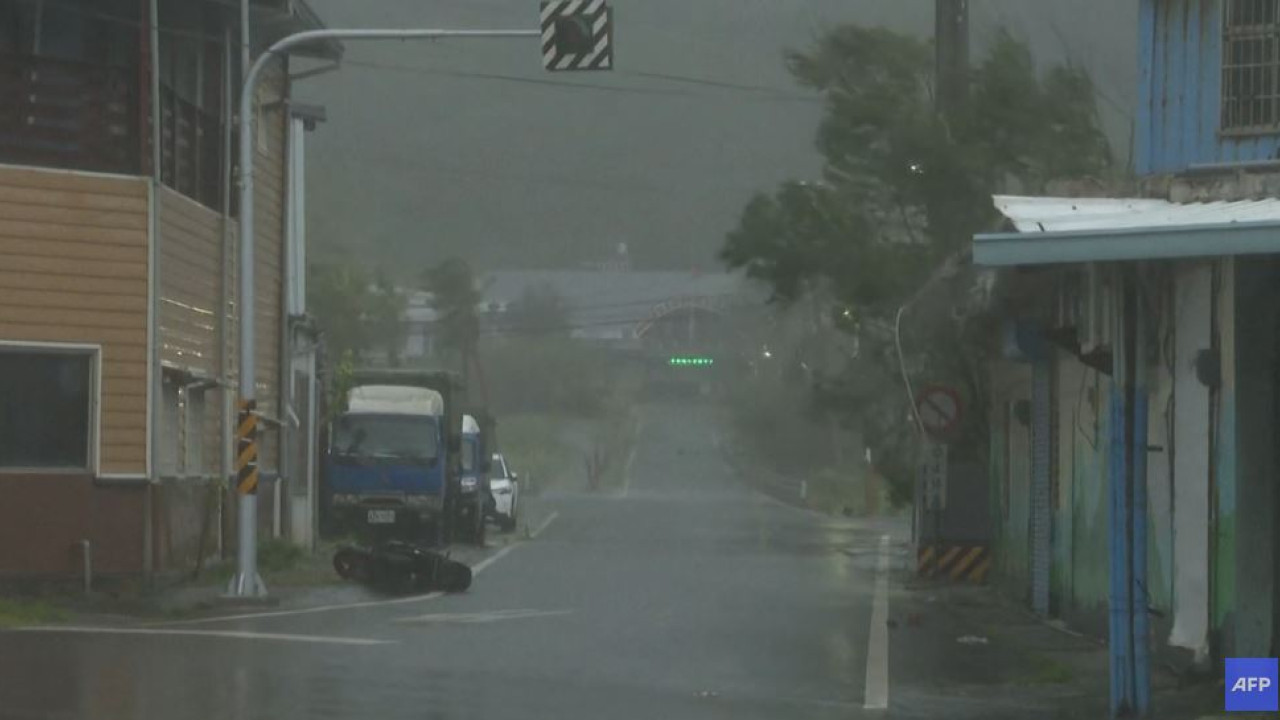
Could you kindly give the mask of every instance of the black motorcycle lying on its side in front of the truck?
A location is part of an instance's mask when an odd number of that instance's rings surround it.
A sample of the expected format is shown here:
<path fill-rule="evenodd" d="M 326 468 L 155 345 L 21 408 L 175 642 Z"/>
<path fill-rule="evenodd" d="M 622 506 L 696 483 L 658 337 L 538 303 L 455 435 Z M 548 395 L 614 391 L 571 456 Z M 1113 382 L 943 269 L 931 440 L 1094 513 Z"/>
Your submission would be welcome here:
<path fill-rule="evenodd" d="M 471 587 L 471 568 L 445 553 L 398 541 L 340 547 L 333 556 L 333 569 L 346 580 L 389 593 L 465 592 Z"/>

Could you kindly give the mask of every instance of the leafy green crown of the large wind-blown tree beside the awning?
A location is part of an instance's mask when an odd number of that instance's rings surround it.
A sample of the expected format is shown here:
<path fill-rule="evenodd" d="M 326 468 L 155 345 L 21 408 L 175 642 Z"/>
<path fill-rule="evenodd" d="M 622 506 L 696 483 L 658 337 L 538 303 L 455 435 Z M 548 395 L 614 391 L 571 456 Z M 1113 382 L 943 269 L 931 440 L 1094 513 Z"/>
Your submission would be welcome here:
<path fill-rule="evenodd" d="M 845 26 L 787 64 L 826 99 L 824 182 L 754 197 L 721 255 L 777 300 L 829 286 L 842 302 L 896 305 L 992 220 L 1010 178 L 1039 187 L 1110 164 L 1088 76 L 1060 65 L 1041 78 L 1007 33 L 950 118 L 933 109 L 929 46 L 905 35 Z"/>

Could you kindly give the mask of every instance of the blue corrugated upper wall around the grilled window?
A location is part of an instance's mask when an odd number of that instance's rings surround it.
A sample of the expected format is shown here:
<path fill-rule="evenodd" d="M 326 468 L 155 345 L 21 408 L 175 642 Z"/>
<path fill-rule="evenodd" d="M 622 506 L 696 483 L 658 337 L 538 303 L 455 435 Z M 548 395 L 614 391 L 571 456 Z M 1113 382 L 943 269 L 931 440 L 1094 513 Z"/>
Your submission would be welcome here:
<path fill-rule="evenodd" d="M 1222 0 L 1140 0 L 1138 32 L 1138 174 L 1276 156 L 1280 132 L 1219 132 Z"/>

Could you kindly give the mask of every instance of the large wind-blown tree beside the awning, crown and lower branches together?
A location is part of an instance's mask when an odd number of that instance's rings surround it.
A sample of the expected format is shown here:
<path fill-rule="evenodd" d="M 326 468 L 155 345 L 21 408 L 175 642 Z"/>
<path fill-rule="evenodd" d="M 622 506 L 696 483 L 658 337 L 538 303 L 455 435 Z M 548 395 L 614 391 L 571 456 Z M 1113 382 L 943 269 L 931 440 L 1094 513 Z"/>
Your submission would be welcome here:
<path fill-rule="evenodd" d="M 814 378 L 814 396 L 858 419 L 873 445 L 901 447 L 891 437 L 908 430 L 900 383 L 858 378 L 901 378 L 893 331 L 899 307 L 911 302 L 902 332 L 910 364 L 982 400 L 975 327 L 954 320 L 948 293 L 925 300 L 922 288 L 937 286 L 931 278 L 989 227 L 993 193 L 1108 172 L 1093 86 L 1070 65 L 1037 73 L 1029 50 L 1004 32 L 970 72 L 968 101 L 946 117 L 934 110 L 932 47 L 910 36 L 838 27 L 788 54 L 787 68 L 824 100 L 822 179 L 751 199 L 721 258 L 771 287 L 772 301 L 824 305 L 824 316 L 841 319 L 829 327 L 858 336 L 858 357 L 842 374 Z"/>

